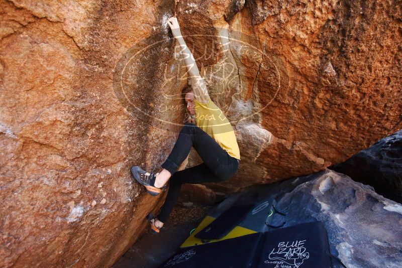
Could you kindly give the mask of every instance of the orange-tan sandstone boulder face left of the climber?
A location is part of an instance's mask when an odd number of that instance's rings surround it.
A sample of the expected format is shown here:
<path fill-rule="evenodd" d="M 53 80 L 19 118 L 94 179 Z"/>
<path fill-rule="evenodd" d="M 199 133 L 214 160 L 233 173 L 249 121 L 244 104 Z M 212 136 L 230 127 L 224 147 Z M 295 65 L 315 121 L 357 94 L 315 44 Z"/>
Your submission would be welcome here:
<path fill-rule="evenodd" d="M 160 20 L 171 5 L 1 1 L 0 13 L 0 266 L 110 266 L 163 201 L 133 182 L 130 166 L 160 165 L 179 129 L 127 109 L 113 70 L 134 44 L 167 37 Z M 154 76 L 182 75 L 163 69 L 177 64 L 172 44 L 138 75 L 148 87 L 132 87 L 144 105 L 161 89 Z"/>

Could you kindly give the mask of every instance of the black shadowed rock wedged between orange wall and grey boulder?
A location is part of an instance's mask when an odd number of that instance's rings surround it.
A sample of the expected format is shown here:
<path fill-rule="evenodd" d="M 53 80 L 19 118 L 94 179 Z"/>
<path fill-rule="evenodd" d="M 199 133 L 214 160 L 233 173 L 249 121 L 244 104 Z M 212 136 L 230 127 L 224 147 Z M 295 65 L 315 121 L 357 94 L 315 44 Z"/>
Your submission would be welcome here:
<path fill-rule="evenodd" d="M 377 193 L 402 203 L 402 130 L 331 169 L 369 184 Z"/>

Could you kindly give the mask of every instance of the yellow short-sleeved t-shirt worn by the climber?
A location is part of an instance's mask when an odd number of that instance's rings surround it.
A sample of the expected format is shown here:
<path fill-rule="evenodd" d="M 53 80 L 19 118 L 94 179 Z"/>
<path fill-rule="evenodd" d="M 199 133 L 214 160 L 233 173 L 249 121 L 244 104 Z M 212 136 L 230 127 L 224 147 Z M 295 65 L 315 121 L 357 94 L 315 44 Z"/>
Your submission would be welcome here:
<path fill-rule="evenodd" d="M 235 131 L 221 109 L 209 98 L 207 103 L 194 99 L 197 126 L 208 133 L 231 157 L 240 160 Z"/>

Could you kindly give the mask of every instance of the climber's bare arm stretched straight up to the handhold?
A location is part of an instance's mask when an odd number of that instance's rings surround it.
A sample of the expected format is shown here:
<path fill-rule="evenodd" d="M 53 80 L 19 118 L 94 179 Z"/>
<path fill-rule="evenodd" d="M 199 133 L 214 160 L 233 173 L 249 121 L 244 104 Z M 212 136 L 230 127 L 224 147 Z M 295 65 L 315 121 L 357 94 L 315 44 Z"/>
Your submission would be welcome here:
<path fill-rule="evenodd" d="M 180 51 L 183 55 L 188 75 L 191 79 L 191 87 L 194 92 L 194 98 L 200 102 L 208 102 L 210 96 L 208 94 L 207 86 L 205 85 L 204 79 L 199 74 L 197 64 L 195 63 L 191 51 L 188 49 L 183 37 L 181 36 L 181 31 L 177 22 L 177 18 L 171 17 L 167 20 L 167 23 L 172 30 L 174 38 L 176 38 L 176 40 L 179 42 Z"/>

